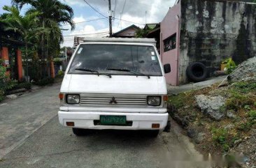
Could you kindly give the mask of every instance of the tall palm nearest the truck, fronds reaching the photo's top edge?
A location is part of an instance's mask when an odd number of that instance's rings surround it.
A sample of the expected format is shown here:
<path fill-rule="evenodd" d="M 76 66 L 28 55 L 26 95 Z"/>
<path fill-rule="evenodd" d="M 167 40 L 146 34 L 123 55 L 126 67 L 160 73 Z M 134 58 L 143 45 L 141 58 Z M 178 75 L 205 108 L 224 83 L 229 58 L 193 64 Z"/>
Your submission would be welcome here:
<path fill-rule="evenodd" d="M 69 24 L 71 30 L 75 29 L 75 24 L 73 23 L 73 9 L 66 5 L 65 3 L 60 2 L 59 0 L 12 0 L 16 6 L 22 8 L 24 4 L 29 4 L 31 8 L 27 10 L 27 13 L 33 13 L 35 11 L 40 12 L 38 15 L 41 20 L 41 26 L 43 29 L 50 29 L 52 32 L 51 38 L 48 38 L 48 33 L 41 34 L 41 56 L 43 59 L 49 59 L 48 54 L 49 50 L 55 49 L 55 52 L 59 51 L 59 44 L 62 43 L 63 36 L 61 29 L 57 29 L 57 26 L 62 24 Z M 56 22 L 55 26 L 53 22 Z M 57 26 L 56 26 L 57 25 Z M 57 36 L 57 37 L 56 37 Z M 54 37 L 54 38 L 52 38 Z M 50 40 L 52 40 L 50 42 Z M 52 44 L 55 44 L 52 46 Z M 46 46 L 46 47 L 45 47 Z"/>

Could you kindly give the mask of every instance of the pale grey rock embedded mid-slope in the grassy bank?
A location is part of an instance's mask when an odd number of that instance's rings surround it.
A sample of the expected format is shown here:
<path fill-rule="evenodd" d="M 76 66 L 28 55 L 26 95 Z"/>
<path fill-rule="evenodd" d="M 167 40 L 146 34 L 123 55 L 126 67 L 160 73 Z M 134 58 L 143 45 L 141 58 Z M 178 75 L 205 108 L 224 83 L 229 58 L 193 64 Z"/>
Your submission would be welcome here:
<path fill-rule="evenodd" d="M 212 119 L 220 120 L 225 114 L 220 112 L 220 107 L 225 104 L 225 98 L 222 96 L 195 96 L 197 105 L 201 112 L 208 114 Z"/>

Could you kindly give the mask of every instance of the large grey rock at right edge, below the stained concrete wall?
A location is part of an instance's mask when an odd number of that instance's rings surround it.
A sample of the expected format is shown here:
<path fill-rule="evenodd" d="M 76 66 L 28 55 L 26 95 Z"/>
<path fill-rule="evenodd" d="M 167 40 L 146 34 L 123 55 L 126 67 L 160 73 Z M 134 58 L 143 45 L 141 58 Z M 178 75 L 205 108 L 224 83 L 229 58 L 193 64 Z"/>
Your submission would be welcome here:
<path fill-rule="evenodd" d="M 256 80 L 256 56 L 243 61 L 227 79 L 229 82 Z"/>

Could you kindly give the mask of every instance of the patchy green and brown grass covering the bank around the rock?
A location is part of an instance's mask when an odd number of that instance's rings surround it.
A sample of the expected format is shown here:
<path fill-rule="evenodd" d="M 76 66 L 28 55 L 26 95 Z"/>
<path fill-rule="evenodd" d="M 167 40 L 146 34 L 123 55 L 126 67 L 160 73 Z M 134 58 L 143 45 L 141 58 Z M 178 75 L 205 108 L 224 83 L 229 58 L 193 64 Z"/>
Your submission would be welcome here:
<path fill-rule="evenodd" d="M 226 114 L 232 110 L 235 119 L 225 117 L 221 121 L 213 121 L 201 112 L 197 107 L 194 96 L 204 94 L 206 96 L 221 95 L 227 98 L 225 105 L 220 107 L 220 112 Z M 196 145 L 202 153 L 226 153 L 229 148 L 235 146 L 234 142 L 250 135 L 250 130 L 256 128 L 256 83 L 237 82 L 225 88 L 218 88 L 215 84 L 211 87 L 180 93 L 170 96 L 169 103 L 176 107 L 177 116 L 183 119 L 189 116 L 189 127 L 196 128 L 198 132 L 206 133 L 206 139 Z M 231 128 L 225 128 L 232 125 Z"/>

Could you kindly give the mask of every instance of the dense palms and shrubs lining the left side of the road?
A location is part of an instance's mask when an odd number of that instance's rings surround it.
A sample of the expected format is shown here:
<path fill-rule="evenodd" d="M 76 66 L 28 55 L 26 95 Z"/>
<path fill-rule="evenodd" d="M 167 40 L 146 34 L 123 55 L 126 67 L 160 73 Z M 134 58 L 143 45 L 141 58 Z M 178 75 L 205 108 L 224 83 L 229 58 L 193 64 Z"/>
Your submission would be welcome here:
<path fill-rule="evenodd" d="M 3 46 L 9 47 L 9 55 L 12 55 L 15 44 L 20 44 L 25 77 L 20 82 L 15 80 L 13 57 L 10 57 L 7 67 L 1 61 L 0 102 L 12 89 L 30 89 L 31 82 L 39 86 L 52 84 L 50 62 L 59 56 L 63 42 L 62 26 L 69 24 L 71 30 L 75 28 L 73 9 L 59 0 L 13 0 L 12 4 L 3 6 L 5 13 L 0 15 L 0 39 Z M 10 73 L 6 73 L 8 70 Z M 59 71 L 57 77 L 63 77 L 63 72 Z"/>

